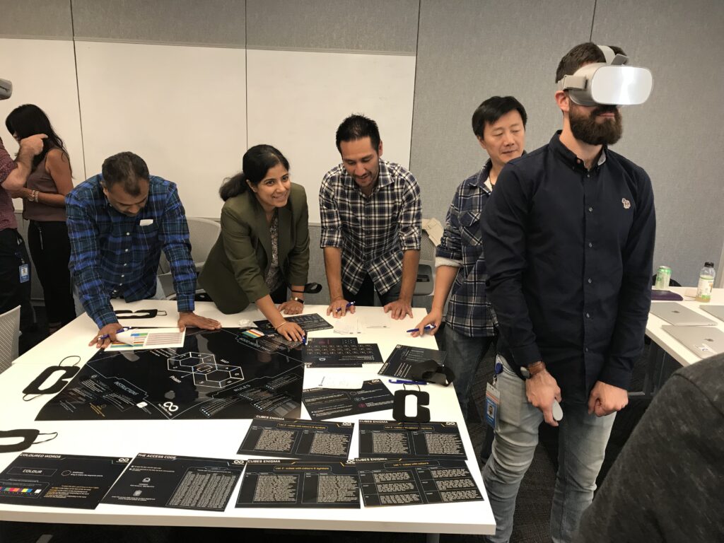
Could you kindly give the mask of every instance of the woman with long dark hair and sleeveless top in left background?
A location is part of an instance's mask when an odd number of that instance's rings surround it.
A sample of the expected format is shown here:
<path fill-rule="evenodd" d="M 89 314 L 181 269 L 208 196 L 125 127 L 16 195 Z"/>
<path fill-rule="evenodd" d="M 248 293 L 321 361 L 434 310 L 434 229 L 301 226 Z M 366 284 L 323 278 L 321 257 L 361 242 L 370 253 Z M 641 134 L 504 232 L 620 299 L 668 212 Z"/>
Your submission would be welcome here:
<path fill-rule="evenodd" d="M 49 332 L 75 319 L 70 285 L 70 240 L 65 225 L 65 195 L 73 188 L 70 157 L 48 116 L 38 106 L 13 109 L 5 126 L 18 142 L 33 134 L 46 134 L 43 151 L 33 159 L 33 172 L 25 187 L 12 193 L 22 198 L 22 216 L 30 220 L 28 245 L 45 298 Z"/>

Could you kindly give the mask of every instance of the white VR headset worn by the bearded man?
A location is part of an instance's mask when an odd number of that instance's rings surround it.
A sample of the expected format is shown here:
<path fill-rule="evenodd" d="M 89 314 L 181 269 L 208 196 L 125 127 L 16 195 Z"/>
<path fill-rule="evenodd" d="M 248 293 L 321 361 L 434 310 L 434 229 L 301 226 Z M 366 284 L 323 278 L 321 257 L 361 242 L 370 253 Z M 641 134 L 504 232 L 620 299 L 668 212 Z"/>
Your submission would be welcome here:
<path fill-rule="evenodd" d="M 586 64 L 575 74 L 558 81 L 558 90 L 568 90 L 568 96 L 579 106 L 636 106 L 651 94 L 653 78 L 648 68 L 626 66 L 628 56 L 615 54 L 607 46 L 598 46 L 606 62 Z"/>

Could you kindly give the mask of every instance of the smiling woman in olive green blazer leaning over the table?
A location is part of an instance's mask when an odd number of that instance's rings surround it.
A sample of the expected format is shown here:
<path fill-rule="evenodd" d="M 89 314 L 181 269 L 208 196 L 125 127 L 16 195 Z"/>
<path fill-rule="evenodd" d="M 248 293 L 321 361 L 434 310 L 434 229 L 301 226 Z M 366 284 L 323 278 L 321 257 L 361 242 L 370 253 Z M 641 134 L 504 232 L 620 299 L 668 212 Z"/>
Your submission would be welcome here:
<path fill-rule="evenodd" d="M 244 154 L 243 172 L 227 180 L 219 193 L 224 200 L 222 232 L 199 283 L 222 312 L 238 313 L 254 302 L 277 332 L 287 340 L 301 340 L 303 330 L 282 311 L 303 309 L 309 269 L 304 188 L 291 182 L 282 153 L 259 145 Z"/>

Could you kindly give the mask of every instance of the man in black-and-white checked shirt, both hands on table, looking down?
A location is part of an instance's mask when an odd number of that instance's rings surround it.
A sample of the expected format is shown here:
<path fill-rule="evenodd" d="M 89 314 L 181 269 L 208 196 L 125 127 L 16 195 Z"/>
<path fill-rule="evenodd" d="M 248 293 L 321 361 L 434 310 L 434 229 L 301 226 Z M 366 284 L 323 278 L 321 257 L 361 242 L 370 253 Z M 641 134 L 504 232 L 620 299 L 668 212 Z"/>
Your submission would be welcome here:
<path fill-rule="evenodd" d="M 412 317 L 421 242 L 417 181 L 379 158 L 379 129 L 363 115 L 342 121 L 337 150 L 342 164 L 327 172 L 319 190 L 327 315 L 374 306 L 376 291 L 392 319 Z"/>

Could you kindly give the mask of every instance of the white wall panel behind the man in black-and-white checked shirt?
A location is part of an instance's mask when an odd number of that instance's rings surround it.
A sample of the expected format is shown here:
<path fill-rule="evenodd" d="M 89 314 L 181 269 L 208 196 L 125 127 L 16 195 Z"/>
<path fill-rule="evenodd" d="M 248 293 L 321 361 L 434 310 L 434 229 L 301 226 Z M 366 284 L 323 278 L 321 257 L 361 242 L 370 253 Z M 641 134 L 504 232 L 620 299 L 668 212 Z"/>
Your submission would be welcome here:
<path fill-rule="evenodd" d="M 340 163 L 334 134 L 348 115 L 374 119 L 384 159 L 409 165 L 414 56 L 247 53 L 248 144 L 269 143 L 287 156 L 292 180 L 307 190 L 309 222 L 319 223 L 319 185 Z"/>

